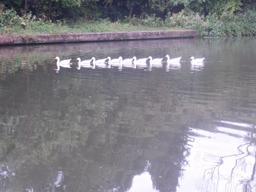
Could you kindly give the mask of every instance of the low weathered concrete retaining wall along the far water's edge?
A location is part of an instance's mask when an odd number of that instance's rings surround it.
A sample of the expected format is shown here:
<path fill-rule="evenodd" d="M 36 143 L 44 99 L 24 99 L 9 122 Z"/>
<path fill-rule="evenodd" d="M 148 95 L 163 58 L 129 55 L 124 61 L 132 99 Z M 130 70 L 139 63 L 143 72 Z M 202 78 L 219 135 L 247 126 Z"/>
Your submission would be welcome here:
<path fill-rule="evenodd" d="M 196 30 L 113 32 L 113 33 L 76 33 L 44 35 L 0 35 L 0 45 L 42 44 L 54 42 L 83 42 L 103 40 L 182 38 L 199 36 Z"/>

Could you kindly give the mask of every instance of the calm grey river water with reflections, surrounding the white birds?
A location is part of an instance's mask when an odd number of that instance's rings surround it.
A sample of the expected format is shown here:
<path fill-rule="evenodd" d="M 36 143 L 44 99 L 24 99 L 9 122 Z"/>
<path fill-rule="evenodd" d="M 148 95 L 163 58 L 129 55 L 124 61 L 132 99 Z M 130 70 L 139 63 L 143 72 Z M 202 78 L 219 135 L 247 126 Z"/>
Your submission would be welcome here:
<path fill-rule="evenodd" d="M 0 47 L 0 191 L 255 191 L 255 137 L 253 37 Z"/>

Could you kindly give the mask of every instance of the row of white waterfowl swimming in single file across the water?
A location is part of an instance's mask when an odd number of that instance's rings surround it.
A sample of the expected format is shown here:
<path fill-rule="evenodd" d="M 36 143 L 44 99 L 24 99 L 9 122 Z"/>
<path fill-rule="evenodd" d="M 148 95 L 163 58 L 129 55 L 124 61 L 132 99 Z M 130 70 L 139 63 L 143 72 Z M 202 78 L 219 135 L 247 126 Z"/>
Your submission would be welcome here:
<path fill-rule="evenodd" d="M 66 60 L 61 60 L 59 57 L 55 57 L 57 59 L 57 69 L 54 69 L 56 71 L 60 70 L 60 67 L 63 68 L 71 68 L 70 66 L 72 65 L 71 59 L 66 59 Z M 122 67 L 132 67 L 132 68 L 137 68 L 137 67 L 161 67 L 163 63 L 167 63 L 167 66 L 170 64 L 179 64 L 180 63 L 181 57 L 178 58 L 173 58 L 170 59 L 169 55 L 166 55 L 164 58 L 152 58 L 150 57 L 145 57 L 145 58 L 140 58 L 137 59 L 136 56 L 133 58 L 127 58 L 123 59 L 121 56 L 115 59 L 111 59 L 111 57 L 107 57 L 104 59 L 98 59 L 96 60 L 95 57 L 92 57 L 91 59 L 88 60 L 83 60 L 78 57 L 76 60 L 78 60 L 78 67 L 76 67 L 78 70 L 81 69 L 81 67 L 84 68 L 111 68 L 111 66 L 117 66 L 119 68 Z M 194 57 L 190 58 L 191 64 L 193 65 L 202 65 L 204 58 L 198 58 L 195 59 Z"/>

